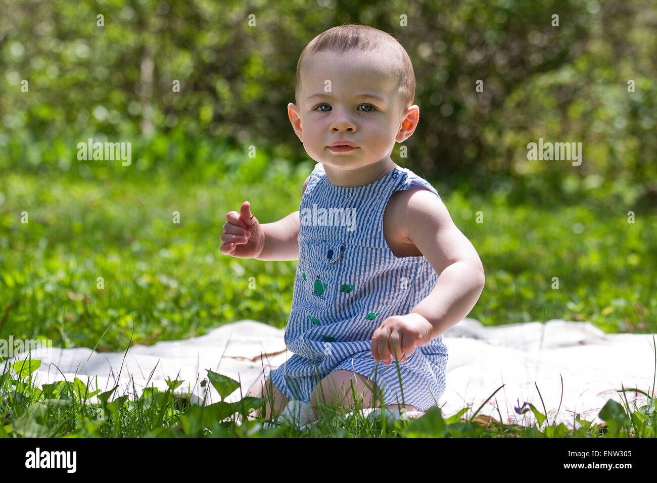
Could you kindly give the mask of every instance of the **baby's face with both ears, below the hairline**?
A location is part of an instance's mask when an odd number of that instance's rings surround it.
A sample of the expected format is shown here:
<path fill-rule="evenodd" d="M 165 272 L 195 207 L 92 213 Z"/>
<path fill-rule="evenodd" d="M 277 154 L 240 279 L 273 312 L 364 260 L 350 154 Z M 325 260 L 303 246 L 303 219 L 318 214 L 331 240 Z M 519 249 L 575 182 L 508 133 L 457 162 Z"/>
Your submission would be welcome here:
<path fill-rule="evenodd" d="M 298 104 L 288 104 L 288 115 L 308 156 L 337 170 L 389 160 L 395 142 L 413 133 L 417 116 L 413 120 L 412 113 L 419 112 L 415 105 L 402 106 L 397 78 L 359 51 L 321 52 L 306 60 Z M 334 152 L 329 147 L 335 141 L 351 141 L 357 148 Z"/>

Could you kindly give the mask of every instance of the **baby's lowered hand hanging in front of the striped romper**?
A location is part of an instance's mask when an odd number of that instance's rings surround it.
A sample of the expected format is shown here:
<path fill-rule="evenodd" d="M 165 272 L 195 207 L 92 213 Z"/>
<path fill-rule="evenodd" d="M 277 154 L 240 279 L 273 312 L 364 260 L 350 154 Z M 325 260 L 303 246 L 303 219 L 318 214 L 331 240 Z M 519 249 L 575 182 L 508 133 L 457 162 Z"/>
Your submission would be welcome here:
<path fill-rule="evenodd" d="M 380 325 L 372 335 L 372 355 L 374 361 L 392 364 L 391 356 L 399 363 L 406 362 L 415 346 L 426 346 L 431 342 L 434 327 L 419 313 L 392 315 Z"/>

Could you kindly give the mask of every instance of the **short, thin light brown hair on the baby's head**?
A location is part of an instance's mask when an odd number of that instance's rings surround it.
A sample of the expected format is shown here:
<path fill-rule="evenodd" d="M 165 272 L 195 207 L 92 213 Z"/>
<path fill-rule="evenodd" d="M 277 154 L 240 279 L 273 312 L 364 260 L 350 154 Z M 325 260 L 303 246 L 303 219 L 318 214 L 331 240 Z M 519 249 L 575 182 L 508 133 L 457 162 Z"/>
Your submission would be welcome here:
<path fill-rule="evenodd" d="M 351 49 L 378 54 L 381 56 L 381 60 L 391 64 L 393 67 L 390 74 L 398 78 L 397 89 L 399 99 L 402 101 L 402 108 L 407 108 L 413 104 L 413 99 L 415 99 L 415 72 L 406 50 L 392 35 L 374 27 L 357 24 L 330 28 L 317 35 L 306 45 L 296 63 L 294 98 L 296 99 L 296 95 L 300 90 L 301 68 L 307 55 L 325 51 L 344 53 Z M 393 53 L 392 59 L 389 57 L 391 52 Z M 296 99 L 297 104 L 299 101 L 300 99 Z"/>

